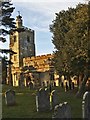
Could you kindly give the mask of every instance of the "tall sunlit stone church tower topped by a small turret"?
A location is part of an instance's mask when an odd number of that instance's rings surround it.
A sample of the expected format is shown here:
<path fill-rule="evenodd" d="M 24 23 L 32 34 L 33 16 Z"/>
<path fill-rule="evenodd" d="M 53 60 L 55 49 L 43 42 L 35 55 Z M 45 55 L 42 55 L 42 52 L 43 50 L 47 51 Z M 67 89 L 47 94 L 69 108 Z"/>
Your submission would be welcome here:
<path fill-rule="evenodd" d="M 23 66 L 23 58 L 35 56 L 35 41 L 34 30 L 23 26 L 22 16 L 16 17 L 16 28 L 18 31 L 13 31 L 10 35 L 10 49 L 16 54 L 10 54 L 11 62 L 11 80 L 13 86 L 18 86 L 20 79 L 20 68 Z M 24 28 L 23 32 L 19 32 Z"/>

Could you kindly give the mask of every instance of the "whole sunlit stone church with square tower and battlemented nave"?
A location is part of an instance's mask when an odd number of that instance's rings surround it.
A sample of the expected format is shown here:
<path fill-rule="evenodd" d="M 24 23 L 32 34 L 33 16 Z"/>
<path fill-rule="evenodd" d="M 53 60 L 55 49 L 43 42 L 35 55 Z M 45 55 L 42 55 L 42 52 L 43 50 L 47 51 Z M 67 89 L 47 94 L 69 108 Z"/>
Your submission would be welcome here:
<path fill-rule="evenodd" d="M 10 34 L 10 49 L 16 54 L 10 54 L 13 64 L 9 66 L 8 82 L 13 86 L 28 86 L 32 81 L 35 86 L 47 86 L 51 81 L 57 81 L 58 75 L 52 65 L 53 54 L 36 56 L 35 31 L 23 26 L 21 15 L 16 16 L 16 28 L 25 30 Z"/>

